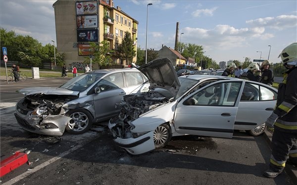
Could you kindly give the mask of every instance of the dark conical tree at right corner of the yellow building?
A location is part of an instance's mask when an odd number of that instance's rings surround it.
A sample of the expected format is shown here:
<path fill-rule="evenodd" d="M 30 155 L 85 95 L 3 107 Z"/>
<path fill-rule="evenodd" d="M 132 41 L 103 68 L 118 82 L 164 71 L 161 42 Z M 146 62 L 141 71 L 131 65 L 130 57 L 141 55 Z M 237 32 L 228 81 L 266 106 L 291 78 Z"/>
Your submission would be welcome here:
<path fill-rule="evenodd" d="M 125 32 L 124 39 L 122 40 L 122 43 L 119 44 L 116 55 L 118 58 L 124 59 L 126 64 L 131 64 L 133 62 L 133 57 L 136 56 L 136 53 L 133 47 L 131 34 L 128 31 Z"/>

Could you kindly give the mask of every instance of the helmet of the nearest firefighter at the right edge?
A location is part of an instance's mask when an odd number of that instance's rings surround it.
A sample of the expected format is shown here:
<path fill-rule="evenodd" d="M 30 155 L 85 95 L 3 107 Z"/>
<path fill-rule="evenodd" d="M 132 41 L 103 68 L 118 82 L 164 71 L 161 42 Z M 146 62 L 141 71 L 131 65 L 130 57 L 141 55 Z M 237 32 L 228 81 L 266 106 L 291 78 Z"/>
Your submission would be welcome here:
<path fill-rule="evenodd" d="M 284 66 L 287 63 L 293 62 L 291 65 L 296 65 L 294 62 L 297 62 L 297 42 L 292 43 L 285 47 L 279 57 L 282 58 L 282 62 L 284 63 Z"/>

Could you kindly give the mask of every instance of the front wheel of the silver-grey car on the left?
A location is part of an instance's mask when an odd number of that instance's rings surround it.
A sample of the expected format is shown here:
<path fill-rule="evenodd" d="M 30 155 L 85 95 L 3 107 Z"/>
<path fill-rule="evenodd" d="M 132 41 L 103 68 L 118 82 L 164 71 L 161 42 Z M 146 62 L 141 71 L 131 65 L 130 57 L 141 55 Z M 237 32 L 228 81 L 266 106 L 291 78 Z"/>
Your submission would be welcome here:
<path fill-rule="evenodd" d="M 72 119 L 66 125 L 66 131 L 70 134 L 82 134 L 92 126 L 92 115 L 83 109 L 71 110 L 66 113 Z"/>

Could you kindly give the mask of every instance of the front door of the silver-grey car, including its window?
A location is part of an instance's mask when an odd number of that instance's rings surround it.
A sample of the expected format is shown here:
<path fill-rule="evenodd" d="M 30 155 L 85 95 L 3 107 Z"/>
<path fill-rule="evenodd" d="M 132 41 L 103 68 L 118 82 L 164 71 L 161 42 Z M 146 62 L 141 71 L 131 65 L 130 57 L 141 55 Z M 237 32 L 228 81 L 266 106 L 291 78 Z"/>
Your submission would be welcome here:
<path fill-rule="evenodd" d="M 120 103 L 126 95 L 124 89 L 123 73 L 114 73 L 105 76 L 94 86 L 99 88 L 99 93 L 94 93 L 94 106 L 97 118 L 115 115 L 119 112 L 115 104 Z"/>

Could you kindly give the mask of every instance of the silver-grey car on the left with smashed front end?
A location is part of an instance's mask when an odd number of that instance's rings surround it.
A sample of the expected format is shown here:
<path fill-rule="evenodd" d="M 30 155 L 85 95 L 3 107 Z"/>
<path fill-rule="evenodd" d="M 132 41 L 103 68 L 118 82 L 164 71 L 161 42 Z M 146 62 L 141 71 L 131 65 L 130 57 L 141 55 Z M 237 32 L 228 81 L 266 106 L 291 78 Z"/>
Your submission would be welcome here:
<path fill-rule="evenodd" d="M 137 69 L 96 70 L 70 79 L 59 87 L 32 87 L 14 113 L 25 130 L 49 136 L 87 132 L 92 123 L 119 114 L 115 104 L 124 95 L 147 92 L 148 78 Z"/>

